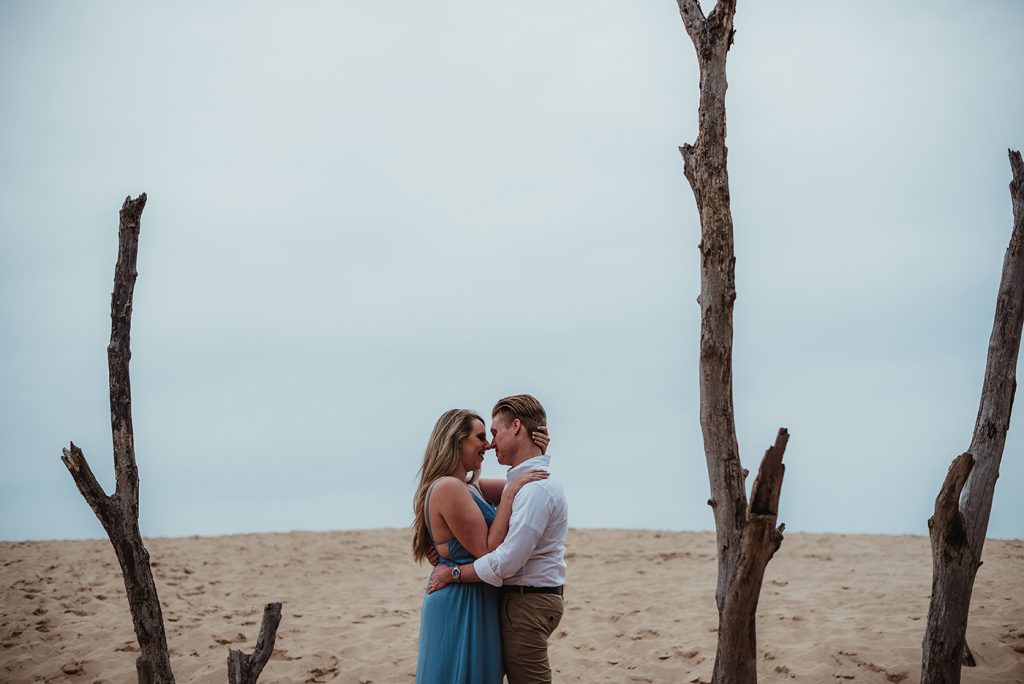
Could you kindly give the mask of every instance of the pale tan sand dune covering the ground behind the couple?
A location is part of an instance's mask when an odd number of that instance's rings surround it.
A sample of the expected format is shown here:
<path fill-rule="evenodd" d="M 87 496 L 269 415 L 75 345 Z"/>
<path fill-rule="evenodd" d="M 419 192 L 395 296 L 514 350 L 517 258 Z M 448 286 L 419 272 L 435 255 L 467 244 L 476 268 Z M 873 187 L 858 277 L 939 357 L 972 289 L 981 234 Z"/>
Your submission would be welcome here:
<path fill-rule="evenodd" d="M 284 602 L 261 682 L 412 682 L 428 568 L 407 530 L 151 539 L 179 682 L 227 681 Z M 708 682 L 711 533 L 573 529 L 558 682 Z M 1024 682 L 1024 542 L 989 541 L 964 682 Z M 786 535 L 759 609 L 763 682 L 916 682 L 931 586 L 921 537 Z M 137 644 L 109 542 L 0 543 L 0 682 L 132 682 Z"/>

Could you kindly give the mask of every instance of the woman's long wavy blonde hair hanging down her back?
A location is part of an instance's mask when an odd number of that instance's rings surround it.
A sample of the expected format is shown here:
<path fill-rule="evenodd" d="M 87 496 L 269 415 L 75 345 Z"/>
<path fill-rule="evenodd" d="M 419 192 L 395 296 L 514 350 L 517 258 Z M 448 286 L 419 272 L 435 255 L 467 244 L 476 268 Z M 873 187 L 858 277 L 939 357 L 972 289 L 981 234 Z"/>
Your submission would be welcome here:
<path fill-rule="evenodd" d="M 423 454 L 423 465 L 420 466 L 420 486 L 413 499 L 413 558 L 423 560 L 427 556 L 433 542 L 427 531 L 427 490 L 439 477 L 451 475 L 459 467 L 459 445 L 473 431 L 473 421 L 483 419 L 472 411 L 452 409 L 441 414 L 434 424 L 427 451 Z M 480 478 L 479 470 L 467 473 L 466 482 L 473 483 Z"/>

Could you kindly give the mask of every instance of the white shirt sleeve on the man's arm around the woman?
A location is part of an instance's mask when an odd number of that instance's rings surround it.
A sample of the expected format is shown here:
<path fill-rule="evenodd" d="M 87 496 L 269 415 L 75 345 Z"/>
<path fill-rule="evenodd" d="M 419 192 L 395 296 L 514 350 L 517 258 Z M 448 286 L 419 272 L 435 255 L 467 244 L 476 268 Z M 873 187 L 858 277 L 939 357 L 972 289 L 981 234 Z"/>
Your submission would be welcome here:
<path fill-rule="evenodd" d="M 473 562 L 480 580 L 501 587 L 505 578 L 526 564 L 544 533 L 550 514 L 551 495 L 542 486 L 527 484 L 512 502 L 509 531 L 497 549 Z"/>

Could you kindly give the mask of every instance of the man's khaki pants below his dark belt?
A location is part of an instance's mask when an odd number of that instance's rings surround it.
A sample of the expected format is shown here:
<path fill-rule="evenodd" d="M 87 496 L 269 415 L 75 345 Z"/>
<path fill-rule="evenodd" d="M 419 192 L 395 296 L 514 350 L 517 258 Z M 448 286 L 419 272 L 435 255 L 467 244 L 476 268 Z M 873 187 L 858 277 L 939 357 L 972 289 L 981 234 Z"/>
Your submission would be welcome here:
<path fill-rule="evenodd" d="M 502 650 L 509 684 L 548 684 L 548 637 L 562 619 L 558 594 L 502 594 Z"/>

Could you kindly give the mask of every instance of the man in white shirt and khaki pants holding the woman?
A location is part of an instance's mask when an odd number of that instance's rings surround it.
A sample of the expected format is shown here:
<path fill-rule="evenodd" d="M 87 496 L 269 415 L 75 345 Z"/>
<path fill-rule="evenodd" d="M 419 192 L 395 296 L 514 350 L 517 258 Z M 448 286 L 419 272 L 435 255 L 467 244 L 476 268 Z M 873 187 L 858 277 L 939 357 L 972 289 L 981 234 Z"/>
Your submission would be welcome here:
<path fill-rule="evenodd" d="M 500 399 L 492 411 L 489 448 L 509 466 L 506 481 L 540 468 L 551 457 L 541 454 L 531 434 L 547 425 L 541 402 L 529 394 Z M 512 504 L 505 541 L 474 563 L 457 568 L 438 565 L 430 591 L 452 582 L 486 582 L 501 587 L 502 649 L 509 684 L 551 682 L 548 637 L 562 618 L 565 584 L 565 493 L 553 477 L 530 482 Z"/>

